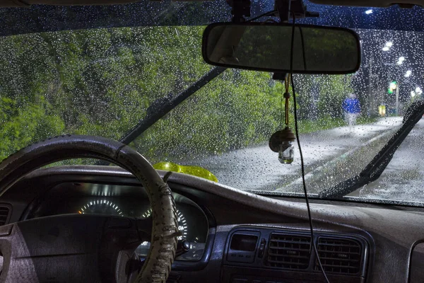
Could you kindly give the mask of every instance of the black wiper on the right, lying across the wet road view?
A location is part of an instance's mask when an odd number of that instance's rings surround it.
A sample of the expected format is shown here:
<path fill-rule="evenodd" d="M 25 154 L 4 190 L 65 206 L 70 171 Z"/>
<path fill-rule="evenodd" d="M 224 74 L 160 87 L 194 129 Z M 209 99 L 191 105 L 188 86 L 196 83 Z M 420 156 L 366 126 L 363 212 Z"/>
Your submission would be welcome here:
<path fill-rule="evenodd" d="M 372 158 L 372 161 L 365 166 L 355 177 L 345 180 L 329 189 L 319 192 L 318 197 L 321 198 L 341 198 L 345 195 L 358 190 L 360 187 L 367 185 L 379 178 L 384 169 L 389 165 L 391 158 L 404 139 L 411 132 L 416 123 L 424 115 L 424 100 L 418 100 L 409 106 L 404 116 L 404 125 L 387 141 L 379 151 L 379 153 Z"/>

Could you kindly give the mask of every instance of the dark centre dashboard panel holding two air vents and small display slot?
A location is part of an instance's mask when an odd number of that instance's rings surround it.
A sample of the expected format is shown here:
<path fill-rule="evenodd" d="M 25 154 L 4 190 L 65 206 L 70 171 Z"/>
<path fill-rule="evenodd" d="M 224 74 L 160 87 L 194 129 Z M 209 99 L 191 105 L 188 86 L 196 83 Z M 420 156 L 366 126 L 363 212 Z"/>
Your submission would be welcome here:
<path fill-rule="evenodd" d="M 225 246 L 221 282 L 318 283 L 325 282 L 313 250 L 330 282 L 363 283 L 368 243 L 351 234 L 314 233 L 239 226 Z"/>

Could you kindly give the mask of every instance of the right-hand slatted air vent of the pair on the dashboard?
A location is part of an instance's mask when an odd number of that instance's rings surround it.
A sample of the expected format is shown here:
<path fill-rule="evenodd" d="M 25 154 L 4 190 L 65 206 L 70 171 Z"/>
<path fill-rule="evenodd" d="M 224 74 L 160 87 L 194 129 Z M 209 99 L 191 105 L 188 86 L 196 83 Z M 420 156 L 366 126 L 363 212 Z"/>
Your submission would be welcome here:
<path fill-rule="evenodd" d="M 320 237 L 317 250 L 322 268 L 326 272 L 357 274 L 360 271 L 362 247 L 358 241 Z M 320 270 L 318 261 L 315 270 Z"/>

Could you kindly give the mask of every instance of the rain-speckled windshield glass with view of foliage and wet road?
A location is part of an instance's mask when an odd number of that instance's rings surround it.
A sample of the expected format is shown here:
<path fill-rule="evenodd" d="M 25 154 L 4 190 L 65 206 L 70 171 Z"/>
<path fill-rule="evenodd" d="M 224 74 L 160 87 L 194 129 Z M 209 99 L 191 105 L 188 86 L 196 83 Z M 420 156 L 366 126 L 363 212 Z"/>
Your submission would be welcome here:
<path fill-rule="evenodd" d="M 303 23 L 354 28 L 363 45 L 355 74 L 294 76 L 307 188 L 317 197 L 363 171 L 400 129 L 409 105 L 422 99 L 424 13 L 423 8 L 308 8 L 322 16 Z M 272 4 L 257 3 L 252 8 L 254 15 L 271 9 Z M 122 139 L 211 71 L 201 57 L 203 30 L 230 16 L 225 1 L 1 12 L 8 26 L 0 37 L 1 159 L 59 134 Z M 394 26 L 387 21 L 394 14 L 421 15 L 421 20 Z M 32 20 L 16 21 L 23 15 Z M 219 183 L 240 190 L 300 195 L 298 146 L 291 164 L 280 163 L 268 146 L 283 127 L 283 92 L 272 74 L 227 69 L 130 146 L 152 163 L 201 166 Z M 290 101 L 292 128 L 293 110 Z M 347 198 L 422 205 L 422 127 L 418 122 L 378 180 Z"/>

